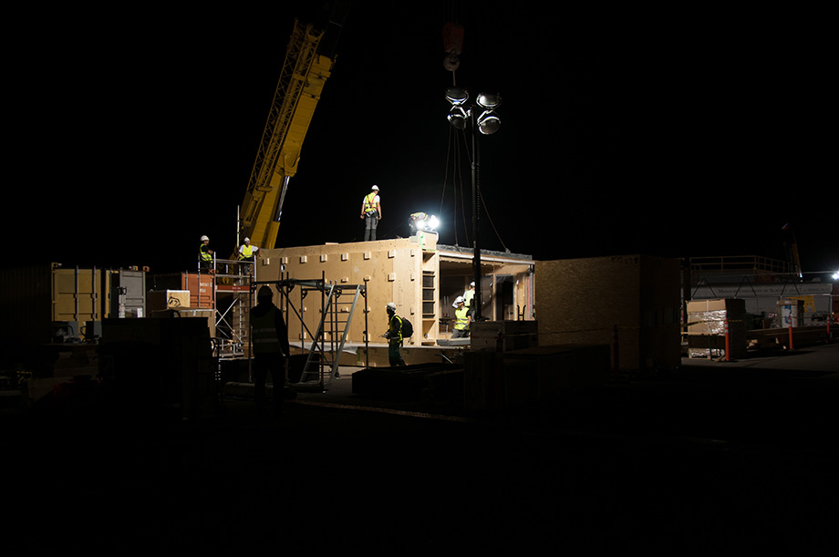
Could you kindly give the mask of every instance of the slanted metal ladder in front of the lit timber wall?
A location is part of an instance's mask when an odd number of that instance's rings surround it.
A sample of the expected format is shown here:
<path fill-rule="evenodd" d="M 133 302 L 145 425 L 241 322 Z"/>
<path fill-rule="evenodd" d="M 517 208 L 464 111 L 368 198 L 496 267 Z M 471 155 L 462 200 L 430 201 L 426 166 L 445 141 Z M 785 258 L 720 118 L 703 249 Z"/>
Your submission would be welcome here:
<path fill-rule="evenodd" d="M 358 299 L 366 297 L 361 284 L 321 284 L 326 299 L 320 323 L 312 338 L 312 346 L 306 356 L 303 374 L 300 376 L 300 383 L 303 384 L 331 384 L 332 380 L 339 376 L 338 362 L 347 343 L 349 325 L 352 323 Z"/>

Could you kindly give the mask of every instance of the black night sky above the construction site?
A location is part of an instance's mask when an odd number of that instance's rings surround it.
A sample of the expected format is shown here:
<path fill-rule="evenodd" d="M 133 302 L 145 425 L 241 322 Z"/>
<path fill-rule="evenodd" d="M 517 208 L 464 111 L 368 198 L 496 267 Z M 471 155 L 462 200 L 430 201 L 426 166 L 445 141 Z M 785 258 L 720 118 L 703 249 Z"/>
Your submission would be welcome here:
<path fill-rule="evenodd" d="M 202 234 L 232 253 L 294 16 L 313 11 L 299 4 L 96 24 L 102 14 L 52 12 L 28 27 L 9 68 L 7 253 L 152 272 L 192 270 Z M 442 28 L 457 19 L 457 84 L 503 98 L 501 130 L 481 138 L 482 247 L 784 259 L 789 223 L 804 271 L 839 269 L 833 65 L 811 27 L 822 17 L 518 4 L 352 6 L 278 246 L 360 241 L 374 183 L 380 237 L 427 211 L 443 219 L 440 242 L 467 245 L 471 222 L 451 222 L 461 186 L 443 98 Z"/>

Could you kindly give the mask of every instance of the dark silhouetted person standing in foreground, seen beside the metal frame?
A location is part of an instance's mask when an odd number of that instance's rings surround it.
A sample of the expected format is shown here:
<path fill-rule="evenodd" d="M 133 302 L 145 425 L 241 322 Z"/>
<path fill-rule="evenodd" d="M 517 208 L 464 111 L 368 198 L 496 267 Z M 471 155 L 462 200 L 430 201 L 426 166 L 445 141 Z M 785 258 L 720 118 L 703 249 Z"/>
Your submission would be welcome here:
<path fill-rule="evenodd" d="M 256 413 L 262 418 L 265 411 L 265 383 L 268 373 L 274 384 L 274 416 L 283 414 L 285 372 L 288 362 L 288 329 L 283 312 L 274 305 L 274 294 L 262 286 L 256 294 L 256 305 L 251 309 L 251 345 L 254 350 L 254 398 Z"/>

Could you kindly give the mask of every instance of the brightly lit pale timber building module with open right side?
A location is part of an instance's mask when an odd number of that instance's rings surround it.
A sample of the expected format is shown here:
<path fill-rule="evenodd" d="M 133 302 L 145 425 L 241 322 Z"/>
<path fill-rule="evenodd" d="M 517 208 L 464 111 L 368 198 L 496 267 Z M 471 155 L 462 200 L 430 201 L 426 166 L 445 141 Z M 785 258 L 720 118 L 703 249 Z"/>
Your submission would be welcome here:
<path fill-rule="evenodd" d="M 491 320 L 533 320 L 533 258 L 513 253 L 481 252 L 482 315 Z M 437 243 L 434 233 L 372 242 L 326 243 L 265 249 L 257 260 L 255 280 L 320 280 L 337 285 L 363 284 L 367 319 L 357 310 L 347 342 L 384 342 L 388 329 L 385 306 L 414 325 L 406 346 L 433 346 L 451 336 L 454 299 L 474 280 L 471 248 Z M 303 300 L 298 308 L 305 327 L 286 315 L 292 340 L 310 340 L 320 319 L 320 299 Z M 365 338 L 365 323 L 368 338 Z"/>

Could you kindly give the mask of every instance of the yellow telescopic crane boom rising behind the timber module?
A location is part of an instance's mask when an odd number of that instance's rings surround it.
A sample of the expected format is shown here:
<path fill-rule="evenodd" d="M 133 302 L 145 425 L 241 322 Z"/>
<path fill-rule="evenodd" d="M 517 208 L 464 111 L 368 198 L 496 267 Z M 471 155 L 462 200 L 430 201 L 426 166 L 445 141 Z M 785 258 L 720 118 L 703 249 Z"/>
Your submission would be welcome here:
<path fill-rule="evenodd" d="M 317 52 L 324 34 L 295 19 L 240 213 L 240 236 L 259 247 L 274 247 L 288 181 L 332 71 L 334 59 Z"/>

